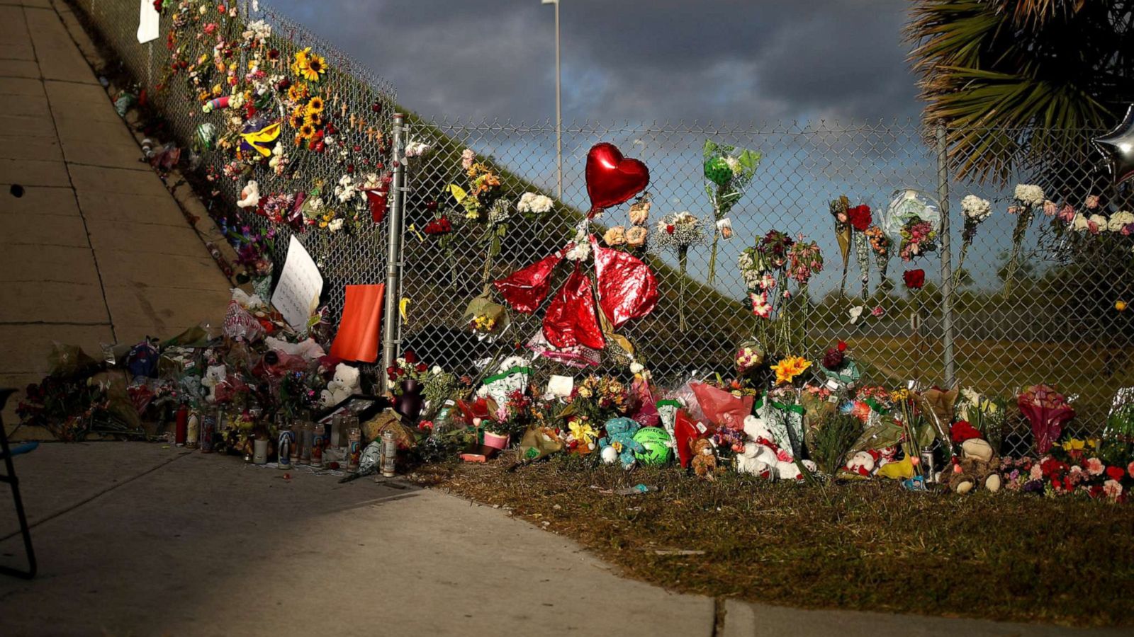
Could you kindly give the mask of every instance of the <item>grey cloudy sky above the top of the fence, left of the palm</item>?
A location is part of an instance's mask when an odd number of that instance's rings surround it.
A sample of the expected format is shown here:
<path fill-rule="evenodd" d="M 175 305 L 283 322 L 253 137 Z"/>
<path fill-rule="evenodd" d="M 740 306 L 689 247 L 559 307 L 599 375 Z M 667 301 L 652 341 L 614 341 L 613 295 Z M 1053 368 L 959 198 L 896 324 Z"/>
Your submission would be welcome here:
<path fill-rule="evenodd" d="M 434 117 L 553 114 L 539 0 L 274 0 Z M 562 0 L 564 119 L 776 121 L 917 112 L 907 0 Z"/>

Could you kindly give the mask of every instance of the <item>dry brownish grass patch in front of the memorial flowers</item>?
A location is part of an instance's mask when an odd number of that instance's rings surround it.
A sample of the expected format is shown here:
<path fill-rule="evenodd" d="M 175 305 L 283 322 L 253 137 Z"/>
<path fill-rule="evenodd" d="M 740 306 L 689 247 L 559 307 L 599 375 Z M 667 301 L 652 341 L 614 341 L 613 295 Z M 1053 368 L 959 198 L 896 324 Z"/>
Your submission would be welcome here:
<path fill-rule="evenodd" d="M 1134 508 L 1016 493 L 908 493 L 875 481 L 804 487 L 734 473 L 430 465 L 417 479 L 574 538 L 669 589 L 1073 626 L 1134 622 Z M 603 493 L 637 483 L 646 495 Z M 682 554 L 680 551 L 703 551 Z"/>

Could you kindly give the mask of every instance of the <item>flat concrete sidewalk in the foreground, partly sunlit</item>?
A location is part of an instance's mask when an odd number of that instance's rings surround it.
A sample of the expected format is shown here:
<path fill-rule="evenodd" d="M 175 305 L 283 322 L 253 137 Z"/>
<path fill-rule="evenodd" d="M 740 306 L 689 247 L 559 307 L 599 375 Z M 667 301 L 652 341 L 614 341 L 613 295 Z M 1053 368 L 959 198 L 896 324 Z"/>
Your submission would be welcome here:
<path fill-rule="evenodd" d="M 712 598 L 619 578 L 505 511 L 398 479 L 288 481 L 119 442 L 44 444 L 17 467 L 40 575 L 0 577 L 5 636 L 1129 635 L 735 601 L 718 627 Z M 15 563 L 0 501 L 0 560 Z"/>

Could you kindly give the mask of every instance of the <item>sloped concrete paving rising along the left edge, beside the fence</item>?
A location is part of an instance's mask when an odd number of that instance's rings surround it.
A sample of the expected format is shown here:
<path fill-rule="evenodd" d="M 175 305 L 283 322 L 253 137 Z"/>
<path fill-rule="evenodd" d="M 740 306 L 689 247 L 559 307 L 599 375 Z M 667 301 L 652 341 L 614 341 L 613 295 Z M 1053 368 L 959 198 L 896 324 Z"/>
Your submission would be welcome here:
<path fill-rule="evenodd" d="M 66 5 L 0 0 L 0 387 L 42 379 L 52 341 L 98 358 L 215 322 L 229 297 L 76 40 L 93 51 Z"/>

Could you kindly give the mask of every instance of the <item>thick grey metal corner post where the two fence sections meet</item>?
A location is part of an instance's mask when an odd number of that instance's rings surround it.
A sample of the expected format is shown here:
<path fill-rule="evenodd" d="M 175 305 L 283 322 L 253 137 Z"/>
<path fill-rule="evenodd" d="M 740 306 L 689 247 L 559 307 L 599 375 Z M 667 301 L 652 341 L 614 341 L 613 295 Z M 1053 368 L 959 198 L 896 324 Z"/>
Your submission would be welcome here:
<path fill-rule="evenodd" d="M 398 357 L 399 334 L 401 333 L 401 315 L 398 313 L 398 301 L 401 299 L 401 224 L 405 205 L 406 167 L 405 156 L 405 116 L 393 113 L 393 154 L 390 163 L 393 167 L 393 182 L 390 185 L 390 226 L 389 243 L 386 252 L 386 308 L 382 320 L 382 389 L 386 389 L 386 370 L 393 365 Z M 380 390 L 381 391 L 381 390 Z"/>

